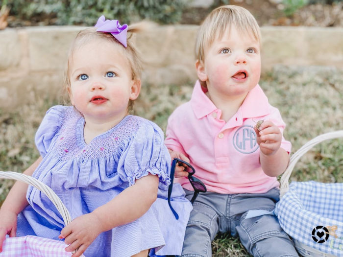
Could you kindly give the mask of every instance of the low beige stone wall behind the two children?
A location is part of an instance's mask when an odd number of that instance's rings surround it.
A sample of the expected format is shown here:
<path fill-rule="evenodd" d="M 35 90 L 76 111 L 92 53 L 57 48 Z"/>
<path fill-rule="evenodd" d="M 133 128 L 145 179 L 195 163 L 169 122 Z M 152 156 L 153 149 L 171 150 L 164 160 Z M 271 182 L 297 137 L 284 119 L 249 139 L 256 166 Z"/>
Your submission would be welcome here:
<path fill-rule="evenodd" d="M 78 26 L 0 31 L 0 108 L 61 93 L 67 54 Z M 196 25 L 161 26 L 134 40 L 145 60 L 143 84 L 196 80 Z M 343 28 L 262 27 L 262 69 L 276 65 L 333 66 L 343 70 Z"/>

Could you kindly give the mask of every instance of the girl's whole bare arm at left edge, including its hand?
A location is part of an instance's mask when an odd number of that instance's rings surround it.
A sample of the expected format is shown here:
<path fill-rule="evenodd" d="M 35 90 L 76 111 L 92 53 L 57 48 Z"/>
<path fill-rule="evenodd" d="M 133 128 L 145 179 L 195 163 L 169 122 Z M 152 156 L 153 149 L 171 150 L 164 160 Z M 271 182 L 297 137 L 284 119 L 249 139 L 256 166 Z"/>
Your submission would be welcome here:
<path fill-rule="evenodd" d="M 25 175 L 31 176 L 43 158 L 38 160 L 24 171 Z M 10 237 L 16 236 L 17 232 L 17 216 L 28 205 L 26 200 L 26 192 L 28 185 L 17 181 L 9 191 L 6 200 L 0 209 L 0 252 L 2 251 L 2 243 L 5 240 L 6 234 Z"/>

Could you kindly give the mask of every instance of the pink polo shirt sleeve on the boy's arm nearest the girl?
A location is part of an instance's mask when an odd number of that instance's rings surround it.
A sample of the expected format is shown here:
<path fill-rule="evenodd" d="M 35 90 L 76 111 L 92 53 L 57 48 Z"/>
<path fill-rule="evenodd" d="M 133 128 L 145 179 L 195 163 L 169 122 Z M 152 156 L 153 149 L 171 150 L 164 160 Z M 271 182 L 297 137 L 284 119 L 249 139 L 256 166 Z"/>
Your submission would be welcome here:
<path fill-rule="evenodd" d="M 175 119 L 175 112 L 172 113 L 172 115 L 168 119 L 168 125 L 166 129 L 166 139 L 164 141 L 164 144 L 167 146 L 168 149 L 171 149 L 172 151 L 177 151 L 185 156 L 188 157 L 188 154 L 186 154 L 185 150 L 182 147 L 180 138 L 180 128 L 182 127 L 181 122 L 177 122 L 177 119 Z"/>

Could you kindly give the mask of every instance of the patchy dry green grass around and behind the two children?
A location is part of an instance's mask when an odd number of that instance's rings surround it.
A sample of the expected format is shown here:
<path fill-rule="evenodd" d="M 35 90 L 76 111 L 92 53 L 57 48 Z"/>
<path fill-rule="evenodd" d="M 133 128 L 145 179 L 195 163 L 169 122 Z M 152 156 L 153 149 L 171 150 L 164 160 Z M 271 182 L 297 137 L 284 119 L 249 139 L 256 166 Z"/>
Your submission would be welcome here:
<path fill-rule="evenodd" d="M 343 73 L 335 69 L 275 68 L 264 75 L 261 87 L 277 107 L 287 127 L 284 137 L 298 150 L 314 137 L 343 128 Z M 143 87 L 135 114 L 156 122 L 163 130 L 172 111 L 191 98 L 193 83 L 183 86 Z M 39 156 L 35 132 L 49 106 L 56 102 L 37 99 L 11 114 L 0 110 L 0 170 L 24 171 Z M 316 180 L 343 183 L 343 140 L 323 142 L 296 164 L 291 181 Z M 0 201 L 12 181 L 0 182 Z M 214 257 L 249 256 L 236 238 L 218 235 L 212 243 Z"/>

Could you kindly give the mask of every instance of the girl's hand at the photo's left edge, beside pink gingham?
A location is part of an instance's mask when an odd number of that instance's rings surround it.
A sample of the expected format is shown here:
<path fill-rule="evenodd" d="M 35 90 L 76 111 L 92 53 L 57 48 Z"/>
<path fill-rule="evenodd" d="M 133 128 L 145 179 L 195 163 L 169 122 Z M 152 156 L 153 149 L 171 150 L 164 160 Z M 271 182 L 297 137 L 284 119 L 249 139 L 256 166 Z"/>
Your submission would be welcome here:
<path fill-rule="evenodd" d="M 17 232 L 17 214 L 10 210 L 0 210 L 0 252 L 6 234 L 15 237 Z"/>

